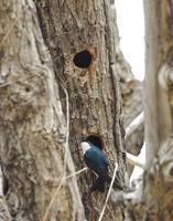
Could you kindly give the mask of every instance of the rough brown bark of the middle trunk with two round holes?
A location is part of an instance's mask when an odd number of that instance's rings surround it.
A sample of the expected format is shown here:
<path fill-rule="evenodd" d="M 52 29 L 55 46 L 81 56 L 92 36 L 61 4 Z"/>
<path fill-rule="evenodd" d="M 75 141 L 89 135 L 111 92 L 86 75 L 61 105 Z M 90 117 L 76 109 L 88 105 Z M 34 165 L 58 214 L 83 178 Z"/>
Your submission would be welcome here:
<path fill-rule="evenodd" d="M 110 6 L 100 0 L 35 0 L 35 3 L 56 82 L 63 82 L 69 95 L 69 147 L 76 169 L 85 166 L 77 149 L 78 143 L 96 135 L 100 137 L 108 158 L 118 161 L 120 182 L 125 182 L 123 129 L 115 56 L 118 43 Z M 91 63 L 86 69 L 78 69 L 74 56 L 83 50 L 90 53 Z M 65 103 L 63 94 L 61 99 Z M 95 192 L 88 196 L 91 180 L 86 172 L 79 177 L 78 185 L 87 219 L 97 220 L 105 194 Z M 104 220 L 123 220 L 123 213 L 109 203 Z"/>

